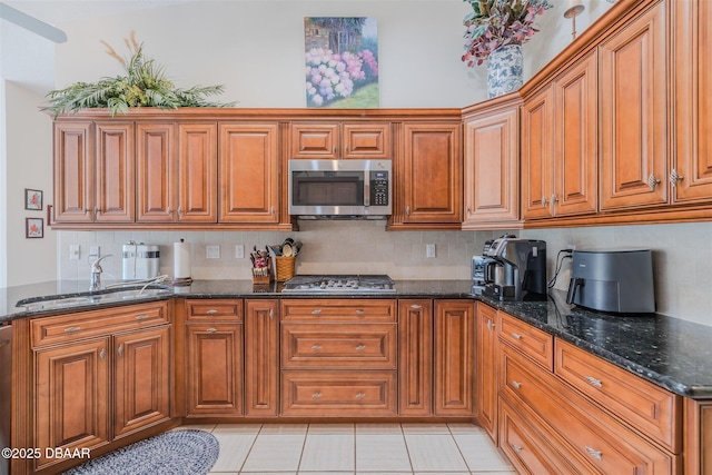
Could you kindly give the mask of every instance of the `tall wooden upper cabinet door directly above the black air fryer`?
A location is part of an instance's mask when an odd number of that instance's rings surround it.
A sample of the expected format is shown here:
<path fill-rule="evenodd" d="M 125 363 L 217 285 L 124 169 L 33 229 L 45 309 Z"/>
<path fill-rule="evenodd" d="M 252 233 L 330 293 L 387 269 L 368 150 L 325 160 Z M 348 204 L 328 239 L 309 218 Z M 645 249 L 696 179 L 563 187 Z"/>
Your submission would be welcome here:
<path fill-rule="evenodd" d="M 668 202 L 665 2 L 600 47 L 603 210 Z"/>

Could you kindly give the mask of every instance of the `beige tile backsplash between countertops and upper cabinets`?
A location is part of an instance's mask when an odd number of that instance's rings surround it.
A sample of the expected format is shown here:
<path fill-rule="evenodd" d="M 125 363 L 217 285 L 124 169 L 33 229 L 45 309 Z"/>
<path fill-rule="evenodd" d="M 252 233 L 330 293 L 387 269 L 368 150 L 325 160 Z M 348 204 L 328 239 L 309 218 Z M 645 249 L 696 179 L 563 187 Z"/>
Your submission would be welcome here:
<path fill-rule="evenodd" d="M 388 274 L 394 279 L 469 279 L 471 257 L 503 231 L 386 231 L 385 221 L 300 221 L 298 232 L 277 231 L 60 231 L 58 278 L 89 279 L 89 248 L 100 246 L 103 280 L 121 279 L 121 246 L 134 240 L 160 246 L 160 273 L 174 275 L 172 244 L 191 245 L 194 279 L 249 279 L 249 251 L 293 237 L 304 244 L 297 274 Z M 635 225 L 562 229 L 526 229 L 514 234 L 547 245 L 548 278 L 556 254 L 577 249 L 645 248 L 653 250 L 657 311 L 712 326 L 712 222 Z M 426 257 L 426 245 L 435 257 Z M 80 246 L 79 260 L 69 246 Z M 206 246 L 219 246 L 220 257 L 206 258 Z M 243 245 L 245 258 L 235 257 Z M 566 264 L 566 263 L 564 263 Z M 567 283 L 562 267 L 557 287 Z"/>

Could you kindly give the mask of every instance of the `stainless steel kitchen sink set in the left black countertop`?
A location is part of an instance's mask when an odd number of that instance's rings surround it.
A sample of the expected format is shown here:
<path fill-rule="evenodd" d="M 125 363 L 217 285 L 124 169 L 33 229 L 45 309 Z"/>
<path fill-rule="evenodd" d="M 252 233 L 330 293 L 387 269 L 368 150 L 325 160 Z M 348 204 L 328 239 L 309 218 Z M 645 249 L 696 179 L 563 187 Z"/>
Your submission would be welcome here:
<path fill-rule="evenodd" d="M 144 300 L 148 298 L 172 295 L 170 287 L 160 288 L 117 288 L 86 294 L 52 295 L 47 297 L 26 298 L 16 304 L 26 311 L 40 311 L 83 307 L 98 304 L 111 304 L 127 300 Z"/>

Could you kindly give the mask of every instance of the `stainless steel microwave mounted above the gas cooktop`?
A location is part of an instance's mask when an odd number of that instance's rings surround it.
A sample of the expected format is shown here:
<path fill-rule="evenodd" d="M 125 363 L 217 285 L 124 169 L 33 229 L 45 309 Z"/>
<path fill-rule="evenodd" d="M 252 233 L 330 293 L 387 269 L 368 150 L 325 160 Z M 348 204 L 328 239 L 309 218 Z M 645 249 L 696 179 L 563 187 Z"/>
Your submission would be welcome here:
<path fill-rule="evenodd" d="M 390 160 L 289 160 L 289 214 L 303 218 L 385 218 L 393 210 Z"/>

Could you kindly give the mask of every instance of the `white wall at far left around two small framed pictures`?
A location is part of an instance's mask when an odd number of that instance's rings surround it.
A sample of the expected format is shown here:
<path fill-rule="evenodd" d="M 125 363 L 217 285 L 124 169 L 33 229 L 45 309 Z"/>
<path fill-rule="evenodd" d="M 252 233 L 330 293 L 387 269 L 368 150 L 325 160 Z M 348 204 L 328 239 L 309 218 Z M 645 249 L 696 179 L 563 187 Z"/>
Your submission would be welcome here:
<path fill-rule="evenodd" d="M 6 286 L 52 280 L 57 277 L 56 232 L 27 239 L 24 219 L 46 219 L 52 200 L 52 122 L 39 113 L 42 98 L 12 81 L 4 81 L 6 127 Z M 48 132 L 49 131 L 49 132 Z M 24 209 L 24 189 L 43 191 L 42 210 Z"/>

